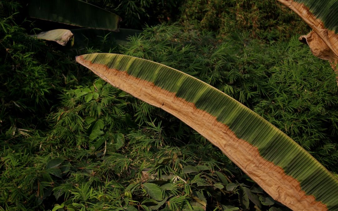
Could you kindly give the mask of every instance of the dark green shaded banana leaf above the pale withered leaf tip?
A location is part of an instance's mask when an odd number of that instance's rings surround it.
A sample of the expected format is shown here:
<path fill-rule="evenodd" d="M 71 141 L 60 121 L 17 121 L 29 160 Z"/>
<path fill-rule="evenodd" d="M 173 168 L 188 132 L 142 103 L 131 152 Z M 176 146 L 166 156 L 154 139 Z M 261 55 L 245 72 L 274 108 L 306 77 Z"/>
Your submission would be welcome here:
<path fill-rule="evenodd" d="M 121 18 L 114 13 L 79 0 L 30 0 L 32 18 L 94 29 L 118 31 Z"/>

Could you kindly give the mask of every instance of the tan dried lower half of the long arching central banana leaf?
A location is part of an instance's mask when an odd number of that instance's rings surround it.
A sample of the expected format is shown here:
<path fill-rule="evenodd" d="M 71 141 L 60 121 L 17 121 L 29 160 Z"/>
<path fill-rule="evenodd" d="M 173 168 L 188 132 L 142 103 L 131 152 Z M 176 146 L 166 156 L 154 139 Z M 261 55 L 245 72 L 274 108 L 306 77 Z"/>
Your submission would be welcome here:
<path fill-rule="evenodd" d="M 259 184 L 274 200 L 292 210 L 328 210 L 325 204 L 306 195 L 300 183 L 286 175 L 283 168 L 265 160 L 257 147 L 240 139 L 215 116 L 197 109 L 195 104 L 176 97 L 175 93 L 161 89 L 152 82 L 141 80 L 125 71 L 109 69 L 106 65 L 93 64 L 77 56 L 76 61 L 113 86 L 134 97 L 173 114 L 203 135 L 239 166 L 252 180 Z"/>

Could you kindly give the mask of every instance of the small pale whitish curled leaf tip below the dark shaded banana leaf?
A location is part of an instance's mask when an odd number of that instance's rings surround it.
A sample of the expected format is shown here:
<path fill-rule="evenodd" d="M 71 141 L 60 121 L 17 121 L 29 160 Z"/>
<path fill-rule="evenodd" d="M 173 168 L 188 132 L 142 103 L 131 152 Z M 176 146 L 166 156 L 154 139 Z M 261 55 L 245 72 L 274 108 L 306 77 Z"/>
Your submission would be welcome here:
<path fill-rule="evenodd" d="M 54 41 L 62 46 L 65 46 L 68 41 L 71 40 L 71 45 L 74 45 L 74 34 L 68 29 L 54 29 L 31 36 L 48 41 Z"/>

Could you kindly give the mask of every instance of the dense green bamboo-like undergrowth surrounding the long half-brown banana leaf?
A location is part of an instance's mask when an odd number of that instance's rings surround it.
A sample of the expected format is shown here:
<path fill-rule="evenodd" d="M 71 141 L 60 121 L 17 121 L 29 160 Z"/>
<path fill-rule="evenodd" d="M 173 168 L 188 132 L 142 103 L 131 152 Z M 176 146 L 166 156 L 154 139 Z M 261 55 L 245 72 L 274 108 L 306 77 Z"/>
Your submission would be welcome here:
<path fill-rule="evenodd" d="M 330 65 L 298 42 L 305 27 L 288 24 L 298 19 L 273 1 L 221 2 L 186 1 L 178 22 L 147 26 L 125 46 L 98 37 L 72 48 L 28 36 L 39 26 L 17 13 L 20 3 L 1 1 L 0 209 L 286 210 L 175 117 L 75 64 L 92 52 L 150 59 L 206 81 L 337 173 L 337 84 Z M 127 26 L 153 15 L 135 8 L 128 14 L 141 15 Z M 235 10 L 245 20 L 261 15 L 246 23 Z"/>

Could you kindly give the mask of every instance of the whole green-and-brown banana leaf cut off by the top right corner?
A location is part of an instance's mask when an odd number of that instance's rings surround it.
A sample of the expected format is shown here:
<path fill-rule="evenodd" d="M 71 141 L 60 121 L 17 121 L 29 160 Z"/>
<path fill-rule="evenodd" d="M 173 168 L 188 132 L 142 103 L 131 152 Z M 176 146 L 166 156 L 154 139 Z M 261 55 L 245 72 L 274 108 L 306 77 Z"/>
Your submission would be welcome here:
<path fill-rule="evenodd" d="M 338 0 L 278 1 L 296 12 L 313 29 L 299 39 L 309 45 L 315 56 L 329 60 L 338 74 Z"/>

